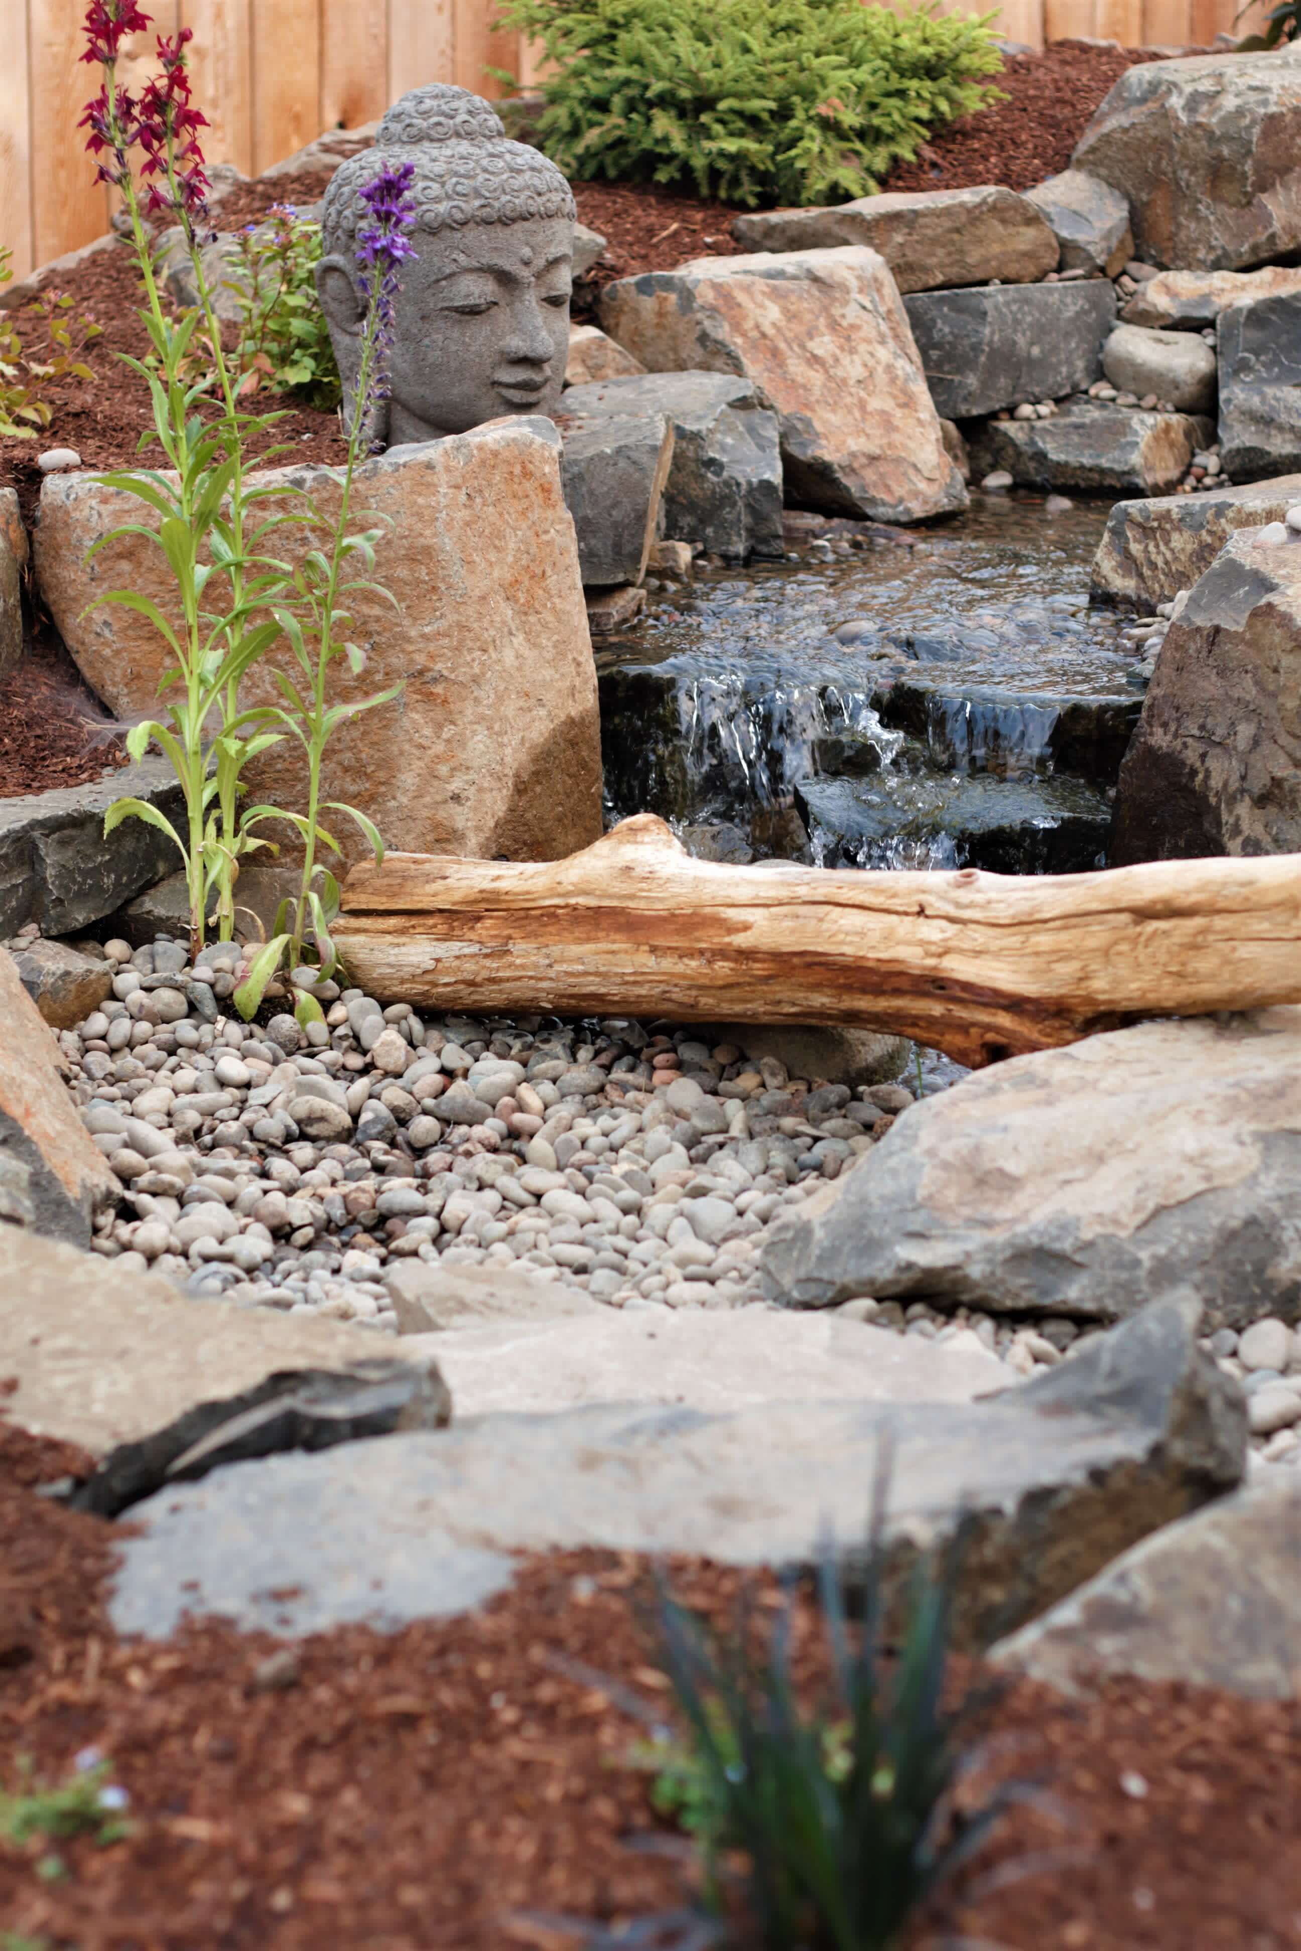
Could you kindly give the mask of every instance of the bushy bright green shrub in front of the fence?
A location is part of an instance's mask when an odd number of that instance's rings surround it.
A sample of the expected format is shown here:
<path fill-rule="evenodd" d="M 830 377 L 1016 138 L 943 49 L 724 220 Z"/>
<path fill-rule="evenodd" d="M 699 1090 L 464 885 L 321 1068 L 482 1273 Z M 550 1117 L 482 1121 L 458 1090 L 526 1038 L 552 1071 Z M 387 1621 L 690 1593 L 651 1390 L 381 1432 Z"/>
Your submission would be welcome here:
<path fill-rule="evenodd" d="M 532 140 L 573 178 L 690 181 L 726 203 L 870 195 L 997 100 L 981 20 L 860 0 L 505 0 L 554 66 Z"/>

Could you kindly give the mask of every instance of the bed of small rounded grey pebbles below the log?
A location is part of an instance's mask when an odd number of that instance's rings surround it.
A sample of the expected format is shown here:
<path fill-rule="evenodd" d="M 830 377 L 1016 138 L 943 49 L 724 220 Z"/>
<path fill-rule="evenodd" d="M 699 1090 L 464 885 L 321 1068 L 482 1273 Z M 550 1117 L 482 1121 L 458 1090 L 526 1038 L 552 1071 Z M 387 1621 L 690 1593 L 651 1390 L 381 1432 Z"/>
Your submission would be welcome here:
<path fill-rule="evenodd" d="M 86 946 L 86 944 L 82 944 Z M 827 1085 L 700 1032 L 628 1018 L 419 1018 L 322 981 L 326 1022 L 246 1024 L 240 950 L 105 944 L 113 993 L 59 1036 L 121 1180 L 92 1251 L 183 1292 L 396 1333 L 384 1272 L 419 1256 L 519 1266 L 611 1307 L 769 1305 L 767 1227 L 909 1110 L 903 1083 Z M 928 1055 L 928 1093 L 964 1075 Z M 1026 1377 L 1088 1338 L 925 1301 L 860 1321 L 975 1336 Z M 1266 1461 L 1301 1461 L 1301 1329 L 1205 1342 L 1248 1395 Z"/>

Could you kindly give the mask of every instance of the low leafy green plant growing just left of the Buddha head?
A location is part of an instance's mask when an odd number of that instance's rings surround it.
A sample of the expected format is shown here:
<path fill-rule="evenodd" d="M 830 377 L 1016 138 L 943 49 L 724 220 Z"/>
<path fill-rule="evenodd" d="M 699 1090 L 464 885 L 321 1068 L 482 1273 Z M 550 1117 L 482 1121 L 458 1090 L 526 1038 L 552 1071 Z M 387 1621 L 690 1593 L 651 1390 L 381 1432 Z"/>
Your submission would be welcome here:
<path fill-rule="evenodd" d="M 306 406 L 339 404 L 339 369 L 316 297 L 320 224 L 275 203 L 238 236 L 228 289 L 240 306 L 240 394 L 285 392 Z"/>

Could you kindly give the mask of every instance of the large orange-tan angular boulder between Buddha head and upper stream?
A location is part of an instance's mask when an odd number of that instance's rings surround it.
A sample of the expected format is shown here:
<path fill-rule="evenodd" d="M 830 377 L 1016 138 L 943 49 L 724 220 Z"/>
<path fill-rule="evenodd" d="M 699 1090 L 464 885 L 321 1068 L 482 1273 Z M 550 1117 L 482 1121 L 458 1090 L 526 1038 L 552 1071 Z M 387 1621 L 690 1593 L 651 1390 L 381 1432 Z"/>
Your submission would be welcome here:
<path fill-rule="evenodd" d="M 966 507 L 878 252 L 696 258 L 607 285 L 601 322 L 651 373 L 751 380 L 780 421 L 788 501 L 878 521 Z"/>

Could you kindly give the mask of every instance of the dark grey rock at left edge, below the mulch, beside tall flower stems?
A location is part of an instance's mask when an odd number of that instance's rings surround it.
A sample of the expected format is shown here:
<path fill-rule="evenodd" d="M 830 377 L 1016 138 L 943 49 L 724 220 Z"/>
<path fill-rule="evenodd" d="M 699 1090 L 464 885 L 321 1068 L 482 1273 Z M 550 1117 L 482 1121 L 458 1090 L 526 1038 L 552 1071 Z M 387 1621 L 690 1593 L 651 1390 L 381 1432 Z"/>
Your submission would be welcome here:
<path fill-rule="evenodd" d="M 181 817 L 166 759 L 142 759 L 90 786 L 0 800 L 0 935 L 25 921 L 39 921 L 47 935 L 76 935 L 176 866 L 168 835 L 142 819 L 125 819 L 103 837 L 105 812 L 127 796 Z"/>

